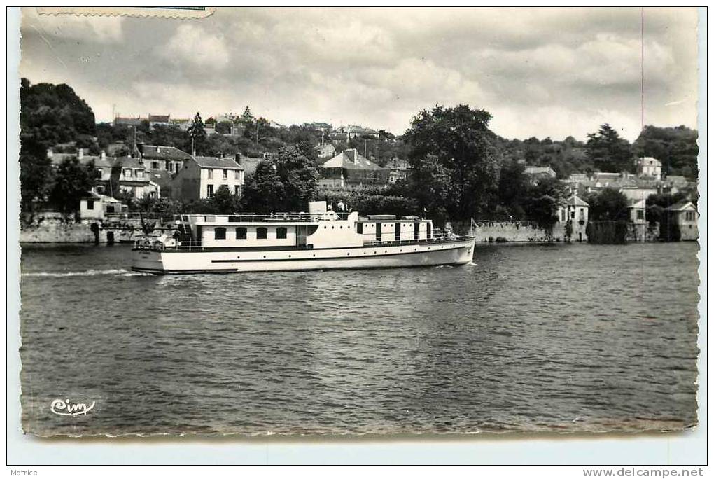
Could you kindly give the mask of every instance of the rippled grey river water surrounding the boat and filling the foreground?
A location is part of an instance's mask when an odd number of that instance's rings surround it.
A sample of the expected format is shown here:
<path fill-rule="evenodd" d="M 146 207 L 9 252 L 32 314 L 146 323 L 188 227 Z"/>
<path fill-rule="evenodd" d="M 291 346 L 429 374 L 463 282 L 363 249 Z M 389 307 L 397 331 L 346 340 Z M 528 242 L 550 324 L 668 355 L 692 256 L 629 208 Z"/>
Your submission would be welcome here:
<path fill-rule="evenodd" d="M 126 246 L 23 246 L 24 428 L 688 427 L 697 248 L 480 246 L 458 267 L 151 276 L 129 271 Z M 56 399 L 94 407 L 57 415 Z"/>

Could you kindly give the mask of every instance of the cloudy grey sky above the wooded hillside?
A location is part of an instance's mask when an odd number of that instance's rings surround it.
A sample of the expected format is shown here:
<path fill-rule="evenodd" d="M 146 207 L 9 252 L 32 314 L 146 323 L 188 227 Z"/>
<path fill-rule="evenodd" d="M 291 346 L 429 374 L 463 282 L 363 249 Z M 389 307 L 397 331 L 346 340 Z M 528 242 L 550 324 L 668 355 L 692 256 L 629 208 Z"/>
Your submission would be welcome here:
<path fill-rule="evenodd" d="M 66 83 L 97 121 L 203 119 L 396 134 L 439 104 L 506 138 L 585 139 L 610 123 L 696 127 L 696 9 L 228 9 L 205 19 L 23 9 L 20 75 Z M 644 109 L 642 106 L 644 105 Z"/>

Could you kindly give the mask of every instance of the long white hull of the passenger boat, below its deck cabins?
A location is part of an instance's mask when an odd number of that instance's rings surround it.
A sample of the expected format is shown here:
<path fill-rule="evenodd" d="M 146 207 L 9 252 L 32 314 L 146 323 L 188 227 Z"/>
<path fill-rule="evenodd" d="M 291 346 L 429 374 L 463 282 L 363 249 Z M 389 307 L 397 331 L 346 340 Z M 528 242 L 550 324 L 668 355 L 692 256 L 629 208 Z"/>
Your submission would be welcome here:
<path fill-rule="evenodd" d="M 146 273 L 241 273 L 317 269 L 396 268 L 466 264 L 473 259 L 474 238 L 352 248 L 246 251 L 136 249 L 131 268 Z"/>

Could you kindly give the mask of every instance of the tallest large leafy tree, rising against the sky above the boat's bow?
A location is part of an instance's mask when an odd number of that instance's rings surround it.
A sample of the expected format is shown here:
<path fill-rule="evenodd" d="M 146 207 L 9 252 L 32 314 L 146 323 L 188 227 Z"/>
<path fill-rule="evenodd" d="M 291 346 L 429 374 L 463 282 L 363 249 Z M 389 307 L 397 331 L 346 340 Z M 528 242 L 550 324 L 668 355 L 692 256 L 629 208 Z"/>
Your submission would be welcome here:
<path fill-rule="evenodd" d="M 416 191 L 429 188 L 424 181 L 429 181 L 430 175 L 419 173 L 433 169 L 429 155 L 441 166 L 440 173 L 458 187 L 448 204 L 440 205 L 453 219 L 486 213 L 496 196 L 500 158 L 496 135 L 488 130 L 490 120 L 488 111 L 473 110 L 468 105 L 436 106 L 419 112 L 406 132 Z"/>

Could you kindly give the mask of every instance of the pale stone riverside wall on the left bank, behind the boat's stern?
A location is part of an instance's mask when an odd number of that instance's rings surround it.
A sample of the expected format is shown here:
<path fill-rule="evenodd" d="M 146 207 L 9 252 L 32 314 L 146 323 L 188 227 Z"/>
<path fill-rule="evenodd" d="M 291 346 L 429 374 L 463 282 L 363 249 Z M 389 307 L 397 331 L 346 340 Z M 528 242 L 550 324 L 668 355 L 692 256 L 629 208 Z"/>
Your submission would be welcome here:
<path fill-rule="evenodd" d="M 173 231 L 171 223 L 157 223 L 151 236 Z M 54 213 L 23 218 L 20 243 L 133 243 L 144 236 L 141 221 L 75 221 Z"/>

